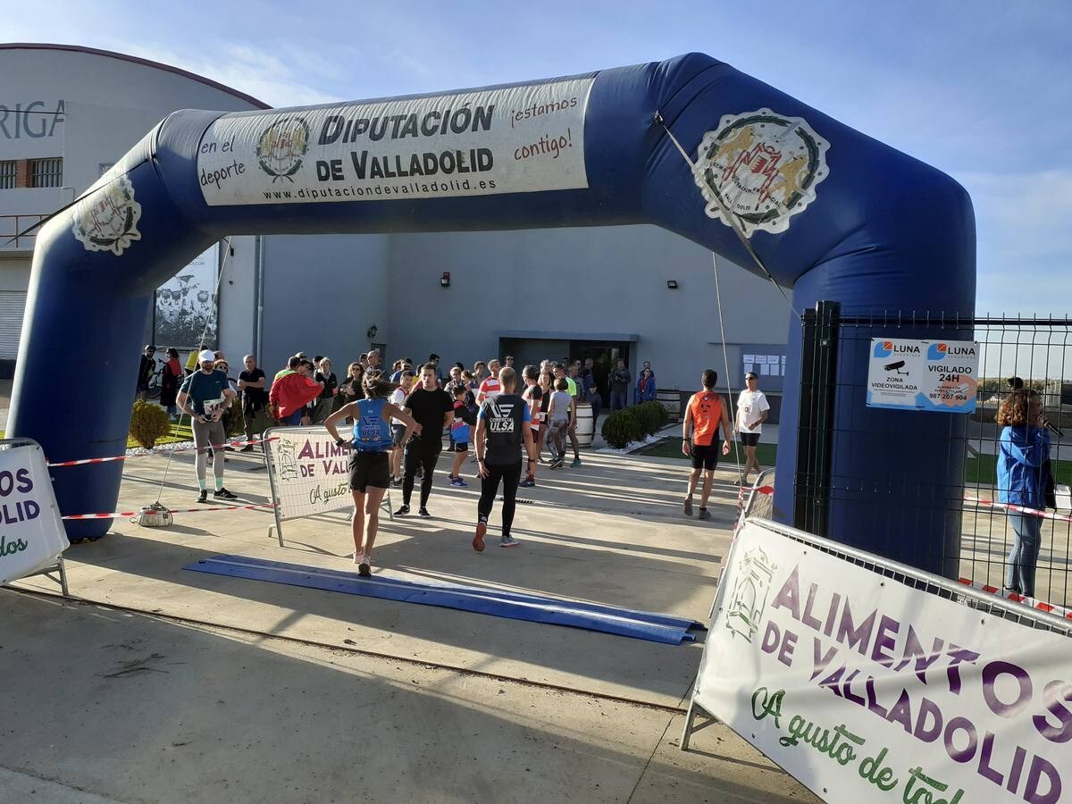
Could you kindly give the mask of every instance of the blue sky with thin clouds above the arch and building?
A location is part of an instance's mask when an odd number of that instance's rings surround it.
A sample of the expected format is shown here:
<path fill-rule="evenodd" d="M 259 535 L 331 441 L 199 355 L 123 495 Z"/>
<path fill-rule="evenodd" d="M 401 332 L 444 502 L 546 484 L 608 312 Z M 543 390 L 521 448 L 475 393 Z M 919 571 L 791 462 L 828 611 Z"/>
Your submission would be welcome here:
<path fill-rule="evenodd" d="M 976 205 L 979 311 L 1072 312 L 1069 0 L 0 0 L 0 12 L 6 41 L 130 53 L 273 105 L 568 75 L 700 50 L 961 181 Z"/>

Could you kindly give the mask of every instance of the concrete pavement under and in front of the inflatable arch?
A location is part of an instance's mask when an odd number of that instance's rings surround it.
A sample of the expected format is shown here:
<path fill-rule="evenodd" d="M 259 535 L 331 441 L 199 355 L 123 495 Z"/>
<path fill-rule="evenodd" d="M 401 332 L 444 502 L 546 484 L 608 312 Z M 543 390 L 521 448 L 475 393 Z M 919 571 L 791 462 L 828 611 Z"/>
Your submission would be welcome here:
<path fill-rule="evenodd" d="M 470 547 L 476 481 L 453 489 L 437 473 L 434 518 L 385 519 L 375 571 L 705 620 L 735 513 L 731 471 L 700 523 L 680 513 L 680 462 L 583 458 L 522 490 L 521 548 L 481 554 Z M 158 493 L 194 507 L 192 457 L 173 458 L 166 479 L 165 465 L 129 460 L 119 508 Z M 226 483 L 267 501 L 257 453 L 232 453 Z M 122 802 L 810 798 L 721 727 L 676 749 L 702 635 L 659 645 L 182 570 L 225 552 L 352 568 L 344 513 L 285 523 L 283 549 L 272 522 L 116 522 L 68 551 L 81 602 L 0 592 L 0 664 L 18 690 L 0 697 L 0 781 L 12 783 L 0 801 L 40 779 L 58 787 L 42 781 L 32 800 L 56 802 L 83 790 Z M 57 592 L 45 578 L 17 585 Z"/>

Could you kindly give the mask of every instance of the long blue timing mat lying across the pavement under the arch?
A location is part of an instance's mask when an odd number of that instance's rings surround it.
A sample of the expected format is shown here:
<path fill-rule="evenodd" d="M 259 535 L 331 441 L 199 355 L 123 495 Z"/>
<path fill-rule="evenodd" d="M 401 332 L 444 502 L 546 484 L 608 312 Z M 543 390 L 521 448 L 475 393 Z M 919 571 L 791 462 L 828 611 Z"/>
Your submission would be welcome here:
<path fill-rule="evenodd" d="M 251 581 L 319 589 L 325 592 L 342 592 L 347 595 L 378 597 L 384 600 L 440 606 L 510 620 L 568 625 L 574 628 L 586 628 L 670 645 L 681 644 L 684 640 L 693 641 L 695 636 L 689 631 L 703 629 L 700 623 L 669 614 L 455 583 L 403 581 L 383 576 L 361 578 L 355 572 L 249 559 L 242 555 L 217 555 L 183 569 Z"/>

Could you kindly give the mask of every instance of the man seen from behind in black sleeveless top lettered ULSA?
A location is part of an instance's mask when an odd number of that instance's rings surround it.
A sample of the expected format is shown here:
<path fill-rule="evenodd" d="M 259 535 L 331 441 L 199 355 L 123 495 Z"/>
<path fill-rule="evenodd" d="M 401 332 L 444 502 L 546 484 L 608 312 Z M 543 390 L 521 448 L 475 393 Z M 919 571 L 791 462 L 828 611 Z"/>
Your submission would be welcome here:
<path fill-rule="evenodd" d="M 500 547 L 517 547 L 510 535 L 513 509 L 517 502 L 518 481 L 521 479 L 521 445 L 524 444 L 528 461 L 535 463 L 536 450 L 528 425 L 532 415 L 528 403 L 513 392 L 518 373 L 513 369 L 498 372 L 501 390 L 494 399 L 480 405 L 476 422 L 476 459 L 480 472 L 480 502 L 477 504 L 476 536 L 473 549 L 483 550 L 488 532 L 488 517 L 503 483 L 503 537 Z"/>

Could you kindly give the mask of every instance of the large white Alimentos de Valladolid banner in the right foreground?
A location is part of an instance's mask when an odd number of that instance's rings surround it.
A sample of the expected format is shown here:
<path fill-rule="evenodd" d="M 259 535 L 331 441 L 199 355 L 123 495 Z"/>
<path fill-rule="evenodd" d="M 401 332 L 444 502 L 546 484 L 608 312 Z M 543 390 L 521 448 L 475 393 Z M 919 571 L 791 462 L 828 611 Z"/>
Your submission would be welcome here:
<path fill-rule="evenodd" d="M 1068 801 L 1069 637 L 746 521 L 695 700 L 831 802 Z"/>

